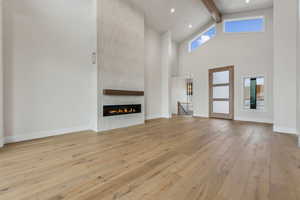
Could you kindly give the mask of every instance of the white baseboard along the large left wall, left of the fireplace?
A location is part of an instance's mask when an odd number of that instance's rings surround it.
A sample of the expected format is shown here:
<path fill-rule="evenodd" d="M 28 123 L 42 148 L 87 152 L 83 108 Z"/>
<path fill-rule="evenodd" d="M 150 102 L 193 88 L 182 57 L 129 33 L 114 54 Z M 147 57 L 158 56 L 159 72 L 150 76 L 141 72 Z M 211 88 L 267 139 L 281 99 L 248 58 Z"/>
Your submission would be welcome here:
<path fill-rule="evenodd" d="M 22 142 L 22 141 L 46 138 L 46 137 L 57 136 L 57 135 L 71 134 L 71 133 L 87 131 L 87 130 L 91 130 L 91 127 L 83 126 L 83 127 L 66 128 L 66 129 L 53 130 L 53 131 L 41 131 L 36 133 L 6 136 L 4 138 L 4 143 L 8 144 L 8 143 Z"/>

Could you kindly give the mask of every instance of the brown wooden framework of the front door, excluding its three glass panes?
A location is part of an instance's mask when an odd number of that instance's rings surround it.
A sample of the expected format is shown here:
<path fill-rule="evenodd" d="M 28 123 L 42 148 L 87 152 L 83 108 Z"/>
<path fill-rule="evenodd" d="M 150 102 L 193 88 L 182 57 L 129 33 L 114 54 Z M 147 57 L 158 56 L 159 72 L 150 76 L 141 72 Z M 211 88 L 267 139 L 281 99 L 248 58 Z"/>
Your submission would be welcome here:
<path fill-rule="evenodd" d="M 229 71 L 229 84 L 213 84 L 213 73 Z M 211 118 L 223 118 L 234 119 L 234 66 L 218 67 L 208 70 L 209 74 L 209 117 Z M 229 86 L 229 99 L 213 99 L 213 87 Z M 213 100 L 215 101 L 229 101 L 230 114 L 213 113 Z"/>

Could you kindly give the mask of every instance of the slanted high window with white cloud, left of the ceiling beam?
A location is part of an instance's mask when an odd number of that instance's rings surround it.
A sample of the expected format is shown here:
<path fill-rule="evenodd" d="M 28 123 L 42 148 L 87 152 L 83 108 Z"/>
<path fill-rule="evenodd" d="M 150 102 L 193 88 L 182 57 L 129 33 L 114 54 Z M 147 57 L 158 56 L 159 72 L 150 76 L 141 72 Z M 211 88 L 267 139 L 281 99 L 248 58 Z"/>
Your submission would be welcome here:
<path fill-rule="evenodd" d="M 198 47 L 202 46 L 211 38 L 215 37 L 216 34 L 217 34 L 217 29 L 216 26 L 213 25 L 189 42 L 189 52 L 192 52 Z"/>

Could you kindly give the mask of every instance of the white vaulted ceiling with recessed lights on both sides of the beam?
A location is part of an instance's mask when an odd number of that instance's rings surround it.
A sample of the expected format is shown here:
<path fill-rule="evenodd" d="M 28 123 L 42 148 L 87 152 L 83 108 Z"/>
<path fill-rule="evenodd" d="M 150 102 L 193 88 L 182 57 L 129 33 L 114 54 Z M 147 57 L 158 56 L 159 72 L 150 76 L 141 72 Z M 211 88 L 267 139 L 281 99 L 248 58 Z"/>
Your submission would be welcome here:
<path fill-rule="evenodd" d="M 193 34 L 211 18 L 201 0 L 127 0 L 145 13 L 148 25 L 159 32 L 170 30 L 173 40 L 179 42 Z M 273 0 L 215 0 L 222 13 L 235 13 L 268 8 Z M 170 9 L 175 8 L 174 14 Z M 193 28 L 188 28 L 192 24 Z"/>

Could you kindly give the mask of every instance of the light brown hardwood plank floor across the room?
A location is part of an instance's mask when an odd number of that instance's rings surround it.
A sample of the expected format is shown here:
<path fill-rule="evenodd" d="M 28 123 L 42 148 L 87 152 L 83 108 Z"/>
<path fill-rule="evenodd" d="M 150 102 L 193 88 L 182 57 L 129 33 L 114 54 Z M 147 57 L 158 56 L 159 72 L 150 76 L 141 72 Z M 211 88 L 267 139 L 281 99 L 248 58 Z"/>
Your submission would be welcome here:
<path fill-rule="evenodd" d="M 175 118 L 0 150 L 3 200 L 297 200 L 296 137 L 270 125 Z"/>

